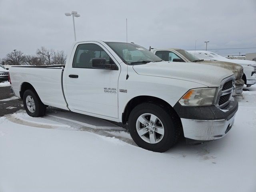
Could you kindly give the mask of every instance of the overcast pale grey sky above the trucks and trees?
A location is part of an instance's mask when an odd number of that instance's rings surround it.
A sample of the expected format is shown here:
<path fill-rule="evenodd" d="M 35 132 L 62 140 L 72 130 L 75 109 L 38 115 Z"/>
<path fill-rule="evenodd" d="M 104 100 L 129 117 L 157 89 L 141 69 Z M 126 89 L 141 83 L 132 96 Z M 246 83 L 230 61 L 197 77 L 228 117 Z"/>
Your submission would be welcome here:
<path fill-rule="evenodd" d="M 145 48 L 256 47 L 256 0 L 0 0 L 0 58 L 14 49 L 64 50 L 77 40 L 128 42 Z M 217 50 L 223 56 L 256 52 Z"/>

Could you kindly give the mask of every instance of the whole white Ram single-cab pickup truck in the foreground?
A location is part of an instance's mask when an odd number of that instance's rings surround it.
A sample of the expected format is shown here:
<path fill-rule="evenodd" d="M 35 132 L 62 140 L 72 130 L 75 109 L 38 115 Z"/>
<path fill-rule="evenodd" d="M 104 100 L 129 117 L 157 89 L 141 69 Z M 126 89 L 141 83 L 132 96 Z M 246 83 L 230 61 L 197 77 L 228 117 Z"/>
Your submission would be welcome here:
<path fill-rule="evenodd" d="M 168 150 L 180 133 L 190 142 L 224 137 L 238 110 L 230 70 L 170 66 L 133 43 L 75 42 L 66 65 L 14 66 L 10 83 L 30 116 L 54 106 L 122 122 L 138 146 L 155 152 Z"/>

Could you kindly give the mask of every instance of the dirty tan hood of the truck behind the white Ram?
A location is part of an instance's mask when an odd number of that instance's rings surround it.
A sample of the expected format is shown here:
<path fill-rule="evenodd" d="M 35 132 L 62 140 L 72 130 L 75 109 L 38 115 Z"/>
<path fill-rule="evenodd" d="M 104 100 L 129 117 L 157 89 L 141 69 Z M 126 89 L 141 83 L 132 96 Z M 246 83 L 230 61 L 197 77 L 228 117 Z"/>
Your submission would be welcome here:
<path fill-rule="evenodd" d="M 232 63 L 232 61 L 230 62 L 225 62 L 225 61 L 201 61 L 198 62 L 201 64 L 206 64 L 206 65 L 213 65 L 213 66 L 217 66 L 217 67 L 222 67 L 225 68 L 227 70 L 234 72 L 240 72 L 240 70 L 242 70 L 242 66 L 236 63 Z"/>

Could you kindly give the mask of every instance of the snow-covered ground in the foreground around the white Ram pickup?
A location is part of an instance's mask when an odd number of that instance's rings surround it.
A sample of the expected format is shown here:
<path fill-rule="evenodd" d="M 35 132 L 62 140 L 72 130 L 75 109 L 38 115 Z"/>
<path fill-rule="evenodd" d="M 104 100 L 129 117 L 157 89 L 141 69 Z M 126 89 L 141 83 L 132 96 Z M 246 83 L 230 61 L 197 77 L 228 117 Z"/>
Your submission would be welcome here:
<path fill-rule="evenodd" d="M 0 118 L 0 191 L 256 191 L 256 86 L 238 97 L 229 134 L 180 141 L 165 153 L 139 148 L 121 127 L 70 112 Z"/>

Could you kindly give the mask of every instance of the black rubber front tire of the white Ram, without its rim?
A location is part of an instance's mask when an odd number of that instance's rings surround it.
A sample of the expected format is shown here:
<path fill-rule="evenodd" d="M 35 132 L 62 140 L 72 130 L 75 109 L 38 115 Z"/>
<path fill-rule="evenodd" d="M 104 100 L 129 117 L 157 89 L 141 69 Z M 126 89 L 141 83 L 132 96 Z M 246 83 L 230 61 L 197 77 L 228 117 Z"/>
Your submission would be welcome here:
<path fill-rule="evenodd" d="M 142 114 L 148 113 L 155 115 L 161 121 L 162 126 L 164 126 L 162 140 L 155 144 L 143 140 L 136 130 L 138 118 Z M 180 119 L 174 112 L 152 103 L 139 104 L 132 110 L 128 119 L 128 128 L 134 142 L 141 148 L 154 152 L 165 152 L 176 144 L 180 136 L 180 127 Z"/>

